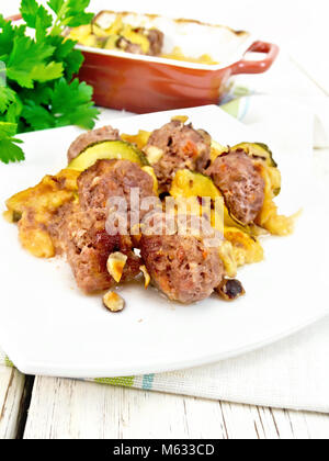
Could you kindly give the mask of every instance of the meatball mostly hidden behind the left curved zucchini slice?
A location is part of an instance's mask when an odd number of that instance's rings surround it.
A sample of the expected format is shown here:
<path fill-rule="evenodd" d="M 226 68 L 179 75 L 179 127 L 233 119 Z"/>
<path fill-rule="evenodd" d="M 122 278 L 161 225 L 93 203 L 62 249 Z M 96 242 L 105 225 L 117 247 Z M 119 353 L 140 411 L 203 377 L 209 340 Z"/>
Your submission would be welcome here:
<path fill-rule="evenodd" d="M 100 143 L 102 140 L 120 140 L 120 134 L 117 130 L 112 126 L 103 126 L 102 128 L 92 130 L 83 133 L 77 137 L 77 139 L 70 145 L 67 158 L 68 162 L 72 161 L 78 155 L 92 144 Z"/>

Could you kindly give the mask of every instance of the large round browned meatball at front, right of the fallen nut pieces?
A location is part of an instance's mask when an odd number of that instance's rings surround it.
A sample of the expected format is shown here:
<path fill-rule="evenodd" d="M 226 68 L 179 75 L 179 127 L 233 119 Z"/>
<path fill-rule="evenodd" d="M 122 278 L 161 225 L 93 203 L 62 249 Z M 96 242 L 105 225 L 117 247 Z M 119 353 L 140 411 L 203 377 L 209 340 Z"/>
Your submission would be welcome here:
<path fill-rule="evenodd" d="M 163 214 L 156 214 L 154 220 L 159 224 L 166 218 Z M 206 245 L 202 234 L 144 234 L 140 239 L 141 258 L 155 285 L 170 300 L 181 303 L 208 297 L 224 277 L 218 247 Z"/>

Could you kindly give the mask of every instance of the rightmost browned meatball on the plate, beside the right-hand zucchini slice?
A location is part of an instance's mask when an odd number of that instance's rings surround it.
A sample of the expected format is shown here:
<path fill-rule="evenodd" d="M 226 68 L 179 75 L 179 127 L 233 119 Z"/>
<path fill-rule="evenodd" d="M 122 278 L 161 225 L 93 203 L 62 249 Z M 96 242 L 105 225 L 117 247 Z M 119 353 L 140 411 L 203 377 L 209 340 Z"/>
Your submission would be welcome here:
<path fill-rule="evenodd" d="M 252 223 L 264 202 L 264 180 L 258 166 L 242 149 L 216 158 L 205 170 L 220 189 L 230 213 L 243 224 Z"/>

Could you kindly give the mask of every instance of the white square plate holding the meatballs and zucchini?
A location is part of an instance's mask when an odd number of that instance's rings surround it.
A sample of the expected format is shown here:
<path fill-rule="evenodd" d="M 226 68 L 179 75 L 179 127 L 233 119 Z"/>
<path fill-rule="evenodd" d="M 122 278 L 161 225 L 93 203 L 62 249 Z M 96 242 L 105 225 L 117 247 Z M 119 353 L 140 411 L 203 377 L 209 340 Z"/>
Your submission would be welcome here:
<path fill-rule="evenodd" d="M 266 142 L 216 106 L 111 121 L 124 133 L 152 130 L 186 114 L 222 144 Z M 0 165 L 0 202 L 66 165 L 75 127 L 22 136 L 26 161 Z M 262 239 L 265 260 L 239 273 L 247 295 L 225 303 L 172 304 L 150 289 L 121 289 L 126 308 L 113 315 L 100 296 L 76 288 L 68 265 L 24 251 L 15 226 L 0 220 L 0 341 L 25 373 L 100 378 L 155 373 L 237 356 L 287 336 L 329 314 L 326 272 L 328 212 L 313 200 L 311 139 L 272 139 L 283 175 L 283 212 L 304 213 L 294 235 Z M 321 221 L 320 221 L 321 220 Z M 326 267 L 327 266 L 327 267 Z"/>

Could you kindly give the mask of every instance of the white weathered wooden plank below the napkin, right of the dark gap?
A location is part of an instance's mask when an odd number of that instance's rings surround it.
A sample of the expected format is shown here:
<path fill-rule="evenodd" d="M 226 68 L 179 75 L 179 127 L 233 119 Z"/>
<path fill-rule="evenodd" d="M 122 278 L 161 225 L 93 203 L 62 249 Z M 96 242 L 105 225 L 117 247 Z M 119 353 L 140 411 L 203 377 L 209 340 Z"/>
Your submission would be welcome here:
<path fill-rule="evenodd" d="M 317 439 L 329 416 L 36 378 L 25 439 Z"/>

